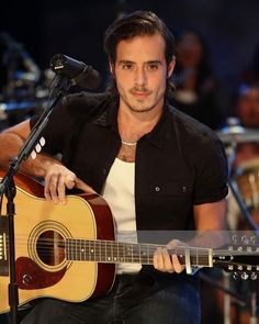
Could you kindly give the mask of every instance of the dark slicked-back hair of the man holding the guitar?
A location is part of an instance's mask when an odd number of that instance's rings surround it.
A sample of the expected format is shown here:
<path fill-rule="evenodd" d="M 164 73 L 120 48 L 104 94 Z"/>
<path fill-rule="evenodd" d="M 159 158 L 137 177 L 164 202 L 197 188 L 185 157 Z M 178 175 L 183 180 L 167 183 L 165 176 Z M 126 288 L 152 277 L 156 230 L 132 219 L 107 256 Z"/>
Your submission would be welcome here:
<path fill-rule="evenodd" d="M 151 11 L 135 11 L 117 19 L 104 34 L 104 51 L 109 60 L 114 64 L 116 47 L 121 41 L 131 40 L 140 35 L 159 33 L 166 44 L 165 57 L 169 64 L 174 55 L 174 37 L 167 25 Z"/>

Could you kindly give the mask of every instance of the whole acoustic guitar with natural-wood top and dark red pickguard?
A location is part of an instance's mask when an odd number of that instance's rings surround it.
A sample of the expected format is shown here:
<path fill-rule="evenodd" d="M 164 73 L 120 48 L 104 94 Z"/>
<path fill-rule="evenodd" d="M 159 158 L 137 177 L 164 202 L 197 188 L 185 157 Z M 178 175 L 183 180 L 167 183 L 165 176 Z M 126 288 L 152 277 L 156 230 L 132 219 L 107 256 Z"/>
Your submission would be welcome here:
<path fill-rule="evenodd" d="M 19 305 L 44 297 L 81 302 L 112 288 L 115 264 L 153 265 L 154 252 L 161 245 L 115 242 L 112 213 L 100 195 L 68 195 L 66 205 L 54 204 L 44 199 L 44 188 L 35 180 L 18 175 L 14 181 Z M 5 198 L 1 204 L 0 313 L 4 313 L 10 310 Z M 179 246 L 171 253 L 188 267 L 215 266 L 241 272 L 243 277 L 245 273 L 246 278 L 249 275 L 255 277 L 259 270 L 258 248 L 238 248 L 216 250 Z"/>

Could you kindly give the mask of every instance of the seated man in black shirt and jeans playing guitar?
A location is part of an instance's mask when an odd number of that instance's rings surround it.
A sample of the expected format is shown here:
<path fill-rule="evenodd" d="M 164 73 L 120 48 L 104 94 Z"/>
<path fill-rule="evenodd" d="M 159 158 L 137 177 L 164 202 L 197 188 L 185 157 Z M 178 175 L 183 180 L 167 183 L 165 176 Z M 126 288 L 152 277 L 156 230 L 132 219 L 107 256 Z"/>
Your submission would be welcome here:
<path fill-rule="evenodd" d="M 44 132 L 45 153 L 24 161 L 21 170 L 43 177 L 46 199 L 55 203 L 66 203 L 67 188 L 103 194 L 119 237 L 125 230 L 127 239 L 136 238 L 136 231 L 223 230 L 227 170 L 222 144 L 166 101 L 176 64 L 170 31 L 156 14 L 134 12 L 108 29 L 104 48 L 113 88 L 68 97 Z M 2 165 L 16 155 L 34 123 L 1 135 Z M 50 157 L 57 153 L 61 163 Z M 168 248 L 177 244 L 171 238 Z M 154 267 L 139 271 L 120 265 L 117 271 L 106 295 L 80 304 L 44 300 L 22 323 L 200 322 L 195 276 L 187 276 L 166 248 L 155 253 Z"/>

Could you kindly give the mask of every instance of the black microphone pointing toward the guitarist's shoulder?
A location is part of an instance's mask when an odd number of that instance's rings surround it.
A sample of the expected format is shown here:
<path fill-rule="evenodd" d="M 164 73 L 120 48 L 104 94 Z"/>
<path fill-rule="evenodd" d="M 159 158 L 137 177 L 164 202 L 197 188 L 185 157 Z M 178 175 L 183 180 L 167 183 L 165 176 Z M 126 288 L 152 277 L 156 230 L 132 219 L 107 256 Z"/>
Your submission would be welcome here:
<path fill-rule="evenodd" d="M 58 75 L 71 79 L 72 85 L 95 89 L 101 82 L 100 74 L 90 65 L 76 60 L 64 54 L 56 54 L 50 60 L 50 68 Z"/>

